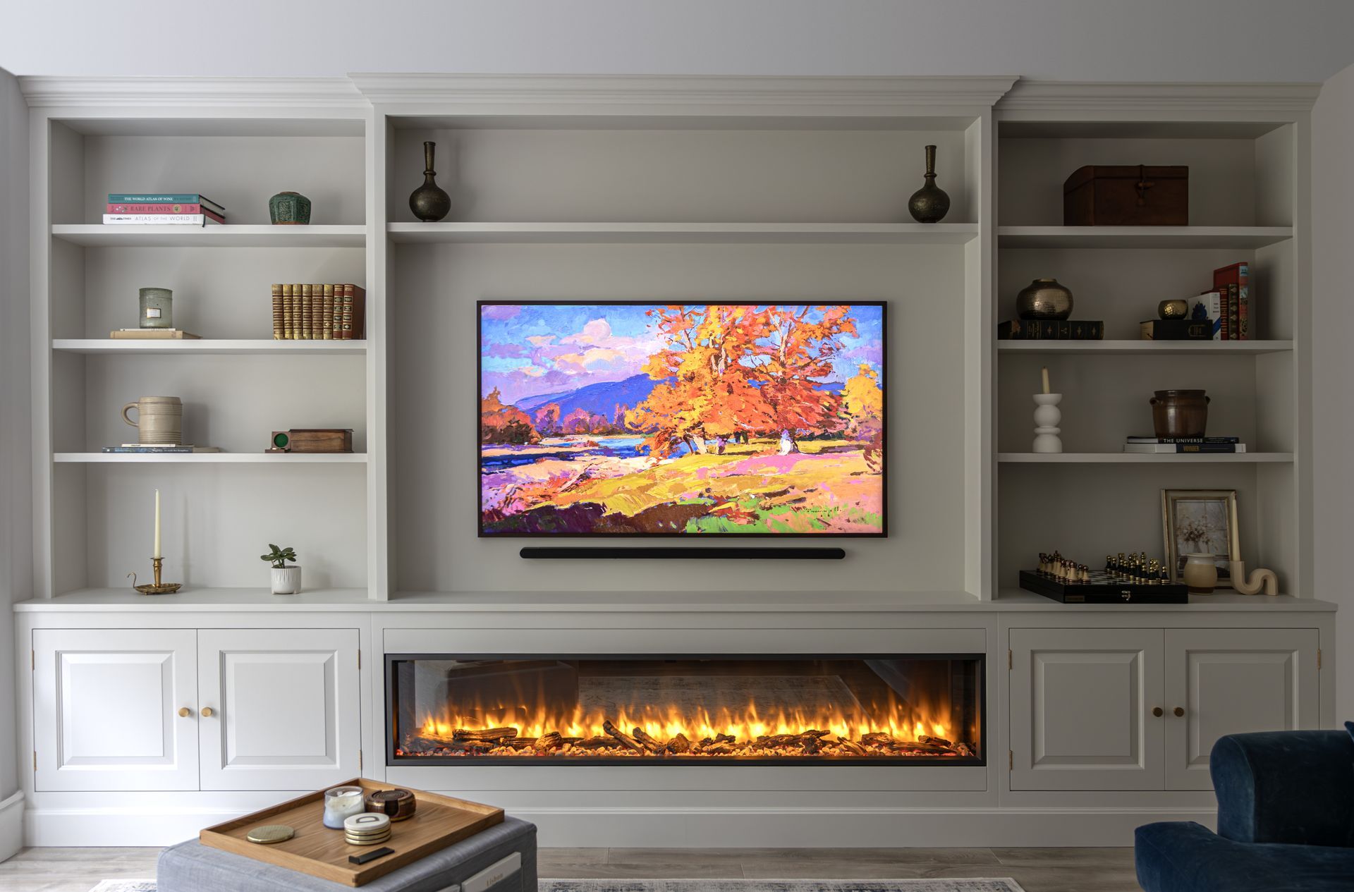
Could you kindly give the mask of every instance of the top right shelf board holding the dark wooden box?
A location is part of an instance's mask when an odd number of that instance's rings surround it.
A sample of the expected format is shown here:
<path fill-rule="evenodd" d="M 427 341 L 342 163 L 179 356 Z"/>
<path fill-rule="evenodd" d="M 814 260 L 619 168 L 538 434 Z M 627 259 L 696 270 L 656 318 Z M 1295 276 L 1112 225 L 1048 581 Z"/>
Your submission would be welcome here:
<path fill-rule="evenodd" d="M 1254 250 L 1292 226 L 998 226 L 998 248 L 1221 248 Z"/>

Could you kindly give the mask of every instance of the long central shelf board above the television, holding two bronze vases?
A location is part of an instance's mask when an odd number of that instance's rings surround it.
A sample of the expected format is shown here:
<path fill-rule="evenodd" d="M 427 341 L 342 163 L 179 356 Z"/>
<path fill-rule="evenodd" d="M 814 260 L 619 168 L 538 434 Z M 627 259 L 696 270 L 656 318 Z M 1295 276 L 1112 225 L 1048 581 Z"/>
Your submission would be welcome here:
<path fill-rule="evenodd" d="M 978 223 L 387 223 L 413 244 L 902 244 L 961 245 Z"/>

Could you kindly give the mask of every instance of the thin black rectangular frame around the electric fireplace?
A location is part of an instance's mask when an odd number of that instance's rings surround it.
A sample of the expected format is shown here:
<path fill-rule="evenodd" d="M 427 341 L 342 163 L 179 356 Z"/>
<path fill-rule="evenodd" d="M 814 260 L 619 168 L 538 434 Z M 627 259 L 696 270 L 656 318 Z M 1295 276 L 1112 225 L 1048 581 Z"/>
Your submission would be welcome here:
<path fill-rule="evenodd" d="M 699 659 L 745 659 L 745 661 L 792 661 L 792 659 L 951 659 L 972 661 L 976 663 L 978 682 L 978 755 L 868 755 L 868 757 L 822 757 L 822 755 L 777 755 L 777 757 L 745 757 L 745 755 L 703 755 L 695 757 L 662 757 L 662 758 L 630 758 L 630 757 L 567 757 L 567 755 L 395 755 L 397 715 L 399 709 L 399 693 L 395 686 L 394 663 L 401 661 L 418 659 L 634 659 L 634 661 L 699 661 Z M 780 767 L 785 765 L 815 765 L 818 767 L 871 765 L 876 767 L 900 766 L 987 766 L 987 655 L 982 652 L 926 652 L 926 654 L 455 654 L 448 651 L 416 652 L 416 654 L 386 654 L 385 655 L 385 688 L 386 688 L 386 766 L 406 767 L 410 765 L 444 766 L 458 765 L 464 767 L 482 766 L 497 767 L 504 765 L 543 765 L 543 766 L 600 766 L 600 765 L 630 765 L 630 766 L 685 766 L 699 767 L 703 765 L 741 765 L 742 767 Z"/>

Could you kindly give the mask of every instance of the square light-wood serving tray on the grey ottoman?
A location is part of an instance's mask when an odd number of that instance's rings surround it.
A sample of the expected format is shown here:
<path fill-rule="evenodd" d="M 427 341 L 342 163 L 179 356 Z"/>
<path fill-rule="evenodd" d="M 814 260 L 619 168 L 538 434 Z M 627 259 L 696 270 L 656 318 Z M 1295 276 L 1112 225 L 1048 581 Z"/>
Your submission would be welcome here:
<path fill-rule="evenodd" d="M 360 786 L 367 793 L 394 789 L 393 784 L 378 784 L 366 778 L 353 778 L 334 786 Z M 504 809 L 493 805 L 417 789 L 409 792 L 418 801 L 414 816 L 391 822 L 390 839 L 375 846 L 349 846 L 341 830 L 329 830 L 324 826 L 324 790 L 306 793 L 280 805 L 207 827 L 198 834 L 198 839 L 213 849 L 356 887 L 425 858 L 466 837 L 473 837 L 504 819 Z M 245 839 L 245 835 L 260 824 L 286 824 L 295 830 L 297 835 L 287 842 L 267 846 Z M 395 853 L 364 865 L 348 861 L 348 855 L 360 855 L 382 846 L 394 849 Z"/>

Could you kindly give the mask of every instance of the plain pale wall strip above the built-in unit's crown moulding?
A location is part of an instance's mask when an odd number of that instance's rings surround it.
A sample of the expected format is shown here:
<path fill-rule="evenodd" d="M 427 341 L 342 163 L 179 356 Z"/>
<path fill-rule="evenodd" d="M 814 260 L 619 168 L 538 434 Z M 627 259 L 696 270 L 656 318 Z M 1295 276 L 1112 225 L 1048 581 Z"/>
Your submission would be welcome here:
<path fill-rule="evenodd" d="M 1351 32 L 1349 0 L 73 0 L 5 4 L 0 65 L 1320 81 Z"/>

